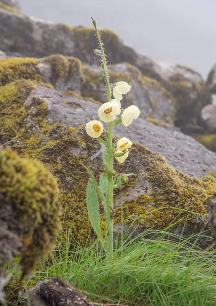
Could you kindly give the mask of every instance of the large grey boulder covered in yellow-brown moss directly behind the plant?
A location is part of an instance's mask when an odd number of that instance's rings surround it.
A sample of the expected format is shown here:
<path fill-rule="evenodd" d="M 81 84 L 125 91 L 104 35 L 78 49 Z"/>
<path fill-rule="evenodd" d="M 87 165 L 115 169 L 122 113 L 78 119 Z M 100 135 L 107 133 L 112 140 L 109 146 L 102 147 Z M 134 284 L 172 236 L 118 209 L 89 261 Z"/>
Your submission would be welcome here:
<path fill-rule="evenodd" d="M 12 79 L 0 87 L 0 128 L 6 133 L 1 141 L 10 139 L 11 145 L 18 145 L 20 155 L 40 159 L 49 167 L 59 180 L 59 201 L 65 210 L 63 238 L 73 222 L 74 239 L 85 241 L 89 235 L 85 200 L 89 177 L 82 163 L 95 173 L 96 179 L 104 171 L 101 155 L 97 155 L 100 143 L 85 133 L 85 124 L 97 119 L 99 105 L 77 94 L 65 95 L 42 81 L 39 84 L 32 74 L 32 80 Z M 105 130 L 107 127 L 104 123 Z M 114 161 L 118 173 L 135 173 L 114 195 L 117 228 L 121 220 L 121 193 L 126 226 L 143 215 L 140 230 L 152 226 L 163 229 L 174 218 L 177 221 L 187 214 L 182 212 L 180 216 L 180 208 L 198 213 L 188 217 L 187 233 L 198 233 L 204 225 L 208 228 L 207 210 L 215 198 L 216 186 L 214 152 L 181 132 L 153 125 L 143 118 L 127 128 L 117 126 L 114 135 L 131 139 L 138 148 L 124 164 Z M 181 229 L 180 224 L 178 230 Z"/>

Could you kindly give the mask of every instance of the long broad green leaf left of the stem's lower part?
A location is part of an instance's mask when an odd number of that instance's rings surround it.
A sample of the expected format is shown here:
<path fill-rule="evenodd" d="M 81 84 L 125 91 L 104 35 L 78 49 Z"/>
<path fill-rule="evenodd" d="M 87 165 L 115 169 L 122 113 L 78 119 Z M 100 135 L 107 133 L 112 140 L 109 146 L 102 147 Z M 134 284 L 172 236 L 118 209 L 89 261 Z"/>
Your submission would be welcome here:
<path fill-rule="evenodd" d="M 91 221 L 91 225 L 98 235 L 98 238 L 104 248 L 105 241 L 103 239 L 103 235 L 100 227 L 100 215 L 99 215 L 99 203 L 96 189 L 94 187 L 94 182 L 92 179 L 89 179 L 87 189 L 86 189 L 86 203 L 89 214 L 89 219 Z"/>

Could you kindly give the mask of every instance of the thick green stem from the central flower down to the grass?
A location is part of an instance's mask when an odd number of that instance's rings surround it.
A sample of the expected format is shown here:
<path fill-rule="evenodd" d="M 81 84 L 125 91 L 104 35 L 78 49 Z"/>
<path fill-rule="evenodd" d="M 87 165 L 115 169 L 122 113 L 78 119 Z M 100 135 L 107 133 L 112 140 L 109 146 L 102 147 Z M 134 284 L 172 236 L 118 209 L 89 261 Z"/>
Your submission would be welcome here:
<path fill-rule="evenodd" d="M 107 188 L 107 212 L 106 212 L 106 258 L 108 261 L 112 260 L 113 252 L 113 221 L 112 209 L 113 208 L 113 176 L 109 173 L 113 169 L 113 151 L 112 151 L 112 136 L 113 136 L 113 122 L 109 123 L 109 134 L 107 142 L 107 155 L 108 155 L 108 171 L 106 173 L 108 180 Z M 108 207 L 110 206 L 110 207 Z"/>

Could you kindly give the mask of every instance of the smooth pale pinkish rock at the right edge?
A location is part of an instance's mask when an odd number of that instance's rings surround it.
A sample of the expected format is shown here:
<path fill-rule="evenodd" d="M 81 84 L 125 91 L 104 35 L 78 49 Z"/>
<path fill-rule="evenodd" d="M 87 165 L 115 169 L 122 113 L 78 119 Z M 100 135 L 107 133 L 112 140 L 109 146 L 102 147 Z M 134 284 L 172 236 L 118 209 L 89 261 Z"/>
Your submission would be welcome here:
<path fill-rule="evenodd" d="M 201 122 L 210 133 L 216 133 L 216 105 L 208 104 L 201 110 Z"/>

